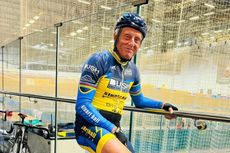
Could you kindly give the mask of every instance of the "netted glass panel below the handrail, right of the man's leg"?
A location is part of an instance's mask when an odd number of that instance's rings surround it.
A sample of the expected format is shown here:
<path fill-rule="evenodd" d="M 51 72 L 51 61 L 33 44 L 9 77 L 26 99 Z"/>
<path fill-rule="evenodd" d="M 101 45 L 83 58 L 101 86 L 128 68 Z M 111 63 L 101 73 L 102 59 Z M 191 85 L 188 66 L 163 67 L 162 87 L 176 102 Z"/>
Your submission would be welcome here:
<path fill-rule="evenodd" d="M 229 125 L 181 117 L 166 120 L 162 115 L 134 112 L 132 144 L 137 153 L 229 152 Z"/>

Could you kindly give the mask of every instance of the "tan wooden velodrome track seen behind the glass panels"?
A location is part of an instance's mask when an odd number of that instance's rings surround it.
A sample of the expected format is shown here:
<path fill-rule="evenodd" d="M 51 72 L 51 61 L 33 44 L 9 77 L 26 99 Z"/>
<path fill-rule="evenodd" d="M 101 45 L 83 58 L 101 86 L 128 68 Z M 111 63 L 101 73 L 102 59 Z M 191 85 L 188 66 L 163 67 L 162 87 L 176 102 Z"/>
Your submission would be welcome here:
<path fill-rule="evenodd" d="M 22 72 L 21 92 L 54 96 L 55 72 L 31 72 Z M 17 76 L 18 72 L 8 71 L 4 73 L 4 91 L 19 91 L 19 77 Z M 60 74 L 59 76 L 58 97 L 75 98 L 79 76 L 76 74 L 75 76 L 67 76 L 66 74 Z M 1 75 L 0 83 L 2 86 Z M 183 110 L 224 115 L 230 114 L 230 99 L 225 99 L 223 97 L 215 97 L 202 93 L 190 93 L 188 91 L 170 90 L 163 87 L 155 88 L 154 85 L 151 84 L 142 84 L 142 89 L 145 96 L 171 102 Z"/>

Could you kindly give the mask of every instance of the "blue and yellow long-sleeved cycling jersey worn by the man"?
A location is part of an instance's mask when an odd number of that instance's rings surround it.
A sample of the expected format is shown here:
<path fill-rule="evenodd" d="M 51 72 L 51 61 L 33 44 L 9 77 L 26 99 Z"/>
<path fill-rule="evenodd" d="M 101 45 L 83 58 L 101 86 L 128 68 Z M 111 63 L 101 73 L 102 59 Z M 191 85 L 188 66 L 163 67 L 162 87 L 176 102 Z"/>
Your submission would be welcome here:
<path fill-rule="evenodd" d="M 114 124 L 99 111 L 122 115 L 129 95 L 136 107 L 161 108 L 163 104 L 143 96 L 133 62 L 122 62 L 114 51 L 95 53 L 82 68 L 76 113 L 90 124 L 112 131 Z"/>

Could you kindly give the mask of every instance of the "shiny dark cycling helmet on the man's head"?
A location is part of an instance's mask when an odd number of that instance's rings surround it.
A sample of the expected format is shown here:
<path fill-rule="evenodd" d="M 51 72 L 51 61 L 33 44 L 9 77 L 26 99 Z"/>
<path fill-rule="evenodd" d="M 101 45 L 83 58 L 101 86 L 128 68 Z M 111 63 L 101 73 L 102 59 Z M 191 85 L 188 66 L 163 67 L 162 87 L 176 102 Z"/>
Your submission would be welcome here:
<path fill-rule="evenodd" d="M 143 39 L 147 33 L 147 25 L 138 14 L 136 13 L 124 13 L 117 21 L 116 29 L 121 29 L 124 27 L 131 27 L 140 31 L 143 35 Z"/>

